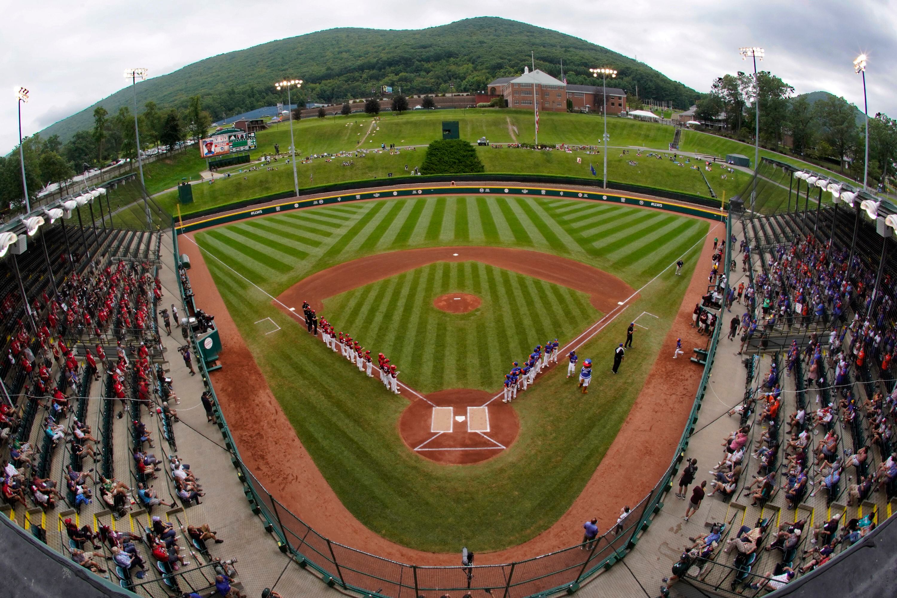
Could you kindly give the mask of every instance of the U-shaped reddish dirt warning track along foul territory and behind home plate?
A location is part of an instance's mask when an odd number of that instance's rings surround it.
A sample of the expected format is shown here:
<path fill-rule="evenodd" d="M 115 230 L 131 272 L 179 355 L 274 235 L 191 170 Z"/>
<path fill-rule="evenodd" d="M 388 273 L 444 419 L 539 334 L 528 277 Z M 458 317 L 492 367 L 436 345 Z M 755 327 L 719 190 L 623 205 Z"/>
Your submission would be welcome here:
<path fill-rule="evenodd" d="M 699 265 L 710 264 L 713 237 L 723 236 L 722 230 L 725 228 L 721 224 L 711 225 L 700 255 L 694 257 Z M 193 233 L 187 237 L 191 240 L 184 239 L 180 250 L 190 257 L 189 274 L 196 303 L 215 315 L 224 347 L 223 368 L 211 374 L 212 383 L 248 468 L 285 507 L 335 542 L 420 566 L 457 565 L 457 552 L 425 552 L 390 542 L 361 524 L 344 507 L 302 446 L 239 334 L 205 264 L 205 252 L 192 241 Z M 482 553 L 477 564 L 507 563 L 566 548 L 579 542 L 582 522 L 593 516 L 599 518 L 601 530 L 605 531 L 624 504 L 634 506 L 658 482 L 673 457 L 701 379 L 700 368 L 688 360 L 672 361 L 673 345 L 668 341 L 681 336 L 685 347 L 704 345 L 704 337 L 694 333 L 690 324 L 694 304 L 701 301 L 707 289 L 705 272 L 706 268 L 695 268 L 675 324 L 667 335 L 670 361 L 666 362 L 663 354 L 658 356 L 623 428 L 570 509 L 532 540 Z M 675 369 L 670 370 L 672 363 Z"/>

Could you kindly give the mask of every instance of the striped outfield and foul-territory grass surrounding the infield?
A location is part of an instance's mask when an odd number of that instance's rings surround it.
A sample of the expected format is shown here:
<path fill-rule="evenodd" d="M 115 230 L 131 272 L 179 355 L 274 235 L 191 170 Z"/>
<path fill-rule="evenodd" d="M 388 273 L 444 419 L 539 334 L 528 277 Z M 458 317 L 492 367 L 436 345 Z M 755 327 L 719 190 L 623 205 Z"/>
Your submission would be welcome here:
<path fill-rule="evenodd" d="M 619 204 L 420 197 L 283 213 L 201 231 L 196 238 L 274 296 L 310 273 L 357 257 L 447 245 L 521 247 L 567 256 L 613 273 L 635 289 L 654 279 L 630 310 L 659 316 L 658 325 L 640 334 L 638 349 L 628 353 L 626 376 L 605 374 L 628 325 L 618 319 L 579 351 L 597 363 L 588 399 L 555 369 L 514 403 L 521 429 L 509 450 L 482 464 L 456 467 L 433 463 L 405 447 L 396 431 L 405 398 L 376 384 L 361 384 L 357 368 L 302 334 L 294 319 L 272 308 L 270 298 L 247 280 L 206 257 L 274 395 L 344 505 L 390 540 L 450 551 L 460 545 L 498 550 L 525 542 L 553 524 L 579 496 L 657 358 L 688 286 L 700 247 L 696 244 L 707 231 L 706 221 Z M 687 251 L 683 276 L 675 276 L 674 268 L 664 270 Z M 370 299 L 370 309 L 379 313 L 393 305 L 403 289 L 397 281 L 384 284 L 382 293 Z M 498 292 L 501 296 L 501 288 Z M 512 316 L 509 305 L 500 308 L 503 316 Z M 265 317 L 282 331 L 264 334 L 255 322 Z M 549 328 L 539 326 L 544 325 L 532 325 L 532 336 L 544 342 Z M 395 334 L 406 335 L 404 323 L 396 325 Z M 360 341 L 369 343 L 367 338 Z M 468 341 L 447 335 L 445 342 L 455 346 L 451 351 L 457 355 Z M 484 354 L 509 351 L 501 331 L 485 334 L 484 342 Z M 396 365 L 405 378 L 421 376 L 412 370 L 431 367 L 424 364 L 432 359 L 427 352 L 410 360 L 403 354 Z M 489 376 L 498 379 L 503 369 Z M 579 540 L 576 533 L 571 531 L 571 543 Z"/>

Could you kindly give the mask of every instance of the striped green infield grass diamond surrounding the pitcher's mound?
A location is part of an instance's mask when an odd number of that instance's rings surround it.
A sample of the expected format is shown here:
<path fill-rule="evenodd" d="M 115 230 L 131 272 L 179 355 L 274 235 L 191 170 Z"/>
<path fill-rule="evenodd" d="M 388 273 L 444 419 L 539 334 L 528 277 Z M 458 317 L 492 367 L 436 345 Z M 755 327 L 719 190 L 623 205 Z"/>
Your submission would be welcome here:
<path fill-rule="evenodd" d="M 435 308 L 433 299 L 449 292 L 483 303 L 466 314 Z M 494 391 L 508 364 L 536 344 L 574 338 L 602 316 L 586 293 L 479 262 L 440 262 L 373 282 L 325 301 L 324 313 L 396 363 L 413 364 L 403 367 L 402 380 L 423 393 Z M 396 334 L 405 326 L 416 332 Z M 494 351 L 492 334 L 501 335 Z"/>

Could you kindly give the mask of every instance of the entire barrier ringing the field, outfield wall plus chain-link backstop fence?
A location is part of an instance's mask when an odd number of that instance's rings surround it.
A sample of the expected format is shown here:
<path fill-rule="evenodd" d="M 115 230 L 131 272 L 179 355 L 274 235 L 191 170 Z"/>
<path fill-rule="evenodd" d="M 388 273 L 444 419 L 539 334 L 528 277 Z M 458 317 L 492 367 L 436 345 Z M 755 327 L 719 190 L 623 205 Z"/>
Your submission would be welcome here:
<path fill-rule="evenodd" d="M 370 192 L 356 195 L 331 195 L 314 200 L 304 200 L 281 205 L 267 206 L 258 210 L 225 214 L 220 217 L 212 217 L 202 221 L 191 222 L 187 225 L 173 227 L 172 235 L 174 256 L 179 258 L 177 233 L 201 230 L 224 222 L 239 221 L 255 216 L 296 210 L 312 205 L 334 204 L 343 201 L 361 201 L 365 199 L 385 199 L 388 197 L 400 197 L 411 195 L 446 195 L 447 191 L 454 194 L 475 195 L 536 195 L 539 197 L 564 197 L 570 199 L 583 199 L 606 201 L 618 204 L 634 204 L 651 207 L 670 212 L 687 213 L 701 218 L 727 222 L 727 237 L 731 236 L 730 219 L 725 212 L 705 210 L 694 206 L 671 204 L 666 202 L 653 202 L 638 197 L 626 195 L 604 195 L 585 193 L 579 190 L 545 189 L 540 187 L 508 186 L 508 187 L 458 187 L 458 186 L 431 186 L 431 187 L 407 187 L 381 192 Z M 727 244 L 726 262 L 731 259 L 730 244 Z M 176 264 L 179 266 L 180 264 Z M 184 290 L 180 285 L 182 305 L 184 302 Z M 728 287 L 726 288 L 726 291 Z M 710 379 L 710 368 L 716 355 L 717 344 L 722 326 L 717 326 L 710 339 L 707 361 L 701 376 L 697 394 L 692 403 L 692 411 L 683 430 L 682 438 L 675 451 L 666 473 L 658 481 L 653 490 L 642 498 L 639 504 L 632 509 L 630 516 L 623 522 L 620 533 L 605 533 L 599 542 L 596 542 L 591 550 L 582 550 L 580 544 L 568 549 L 558 550 L 534 559 L 516 561 L 501 565 L 464 567 L 418 567 L 414 564 L 399 563 L 394 560 L 384 559 L 377 555 L 364 552 L 337 542 L 317 533 L 305 524 L 299 516 L 294 515 L 289 509 L 283 507 L 277 498 L 268 492 L 257 480 L 253 473 L 243 464 L 239 449 L 231 436 L 231 430 L 224 420 L 221 406 L 214 393 L 210 382 L 208 370 L 202 360 L 199 368 L 203 375 L 205 386 L 211 392 L 214 403 L 214 413 L 221 429 L 222 438 L 226 448 L 231 452 L 231 463 L 237 470 L 239 480 L 243 482 L 244 493 L 248 499 L 249 507 L 253 513 L 262 517 L 265 529 L 274 536 L 279 549 L 283 553 L 290 554 L 301 568 L 311 569 L 325 584 L 338 585 L 346 591 L 365 596 L 382 595 L 390 598 L 402 598 L 416 596 L 438 596 L 448 591 L 483 590 L 502 598 L 523 598 L 526 596 L 546 596 L 560 592 L 575 592 L 579 585 L 587 583 L 598 573 L 614 566 L 614 563 L 623 559 L 637 542 L 640 534 L 648 529 L 652 518 L 663 507 L 663 498 L 673 488 L 673 481 L 679 464 L 684 458 L 685 448 L 694 431 L 698 420 L 698 411 L 704 393 L 707 390 Z M 200 351 L 196 336 L 191 335 L 191 341 Z"/>

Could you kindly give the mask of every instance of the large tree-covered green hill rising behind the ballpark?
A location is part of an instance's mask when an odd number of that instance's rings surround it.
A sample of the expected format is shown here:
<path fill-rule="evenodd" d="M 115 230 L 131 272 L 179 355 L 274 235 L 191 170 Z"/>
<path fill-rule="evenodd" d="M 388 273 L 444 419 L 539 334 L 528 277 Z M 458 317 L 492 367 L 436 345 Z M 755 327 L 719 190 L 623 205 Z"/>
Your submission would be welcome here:
<path fill-rule="evenodd" d="M 530 50 L 536 52 L 536 68 L 554 76 L 561 74 L 563 58 L 570 83 L 591 84 L 588 68 L 608 66 L 619 71 L 615 86 L 633 92 L 638 84 L 643 99 L 673 100 L 688 108 L 699 95 L 648 65 L 583 39 L 495 17 L 423 30 L 344 28 L 279 39 L 139 82 L 137 92 L 141 110 L 147 100 L 159 108 L 184 108 L 190 96 L 201 95 L 217 119 L 282 100 L 272 83 L 283 77 L 303 79 L 305 99 L 324 102 L 370 96 L 380 85 L 401 87 L 406 95 L 452 91 L 449 84 L 454 91 L 478 91 L 495 77 L 521 73 L 530 65 Z M 98 104 L 115 114 L 131 101 L 130 90 L 118 91 L 40 134 L 58 134 L 65 143 L 76 131 L 91 128 Z"/>

